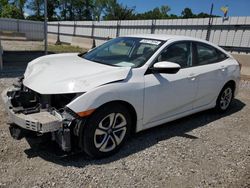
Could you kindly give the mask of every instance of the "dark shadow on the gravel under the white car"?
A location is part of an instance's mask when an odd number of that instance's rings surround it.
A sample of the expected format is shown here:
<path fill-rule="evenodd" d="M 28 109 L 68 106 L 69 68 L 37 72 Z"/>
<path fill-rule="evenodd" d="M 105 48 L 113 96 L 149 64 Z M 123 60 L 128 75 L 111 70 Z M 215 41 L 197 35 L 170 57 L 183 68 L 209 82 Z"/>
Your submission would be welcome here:
<path fill-rule="evenodd" d="M 84 153 L 75 154 L 67 157 L 56 157 L 53 155 L 54 146 L 48 145 L 47 148 L 31 148 L 24 152 L 27 157 L 41 157 L 44 160 L 62 165 L 62 166 L 73 166 L 82 168 L 90 164 L 106 164 L 111 163 L 129 155 L 140 152 L 146 148 L 149 148 L 159 141 L 167 140 L 173 137 L 184 137 L 186 139 L 199 139 L 199 137 L 192 136 L 188 132 L 197 129 L 199 127 L 207 126 L 209 123 L 216 121 L 225 116 L 234 114 L 244 108 L 245 104 L 235 99 L 232 102 L 231 108 L 223 114 L 215 113 L 214 110 L 203 111 L 194 115 L 187 116 L 185 118 L 165 123 L 160 126 L 136 133 L 132 138 L 125 144 L 124 147 L 115 155 L 105 159 L 94 160 L 87 157 Z"/>

